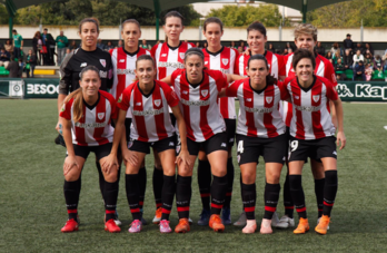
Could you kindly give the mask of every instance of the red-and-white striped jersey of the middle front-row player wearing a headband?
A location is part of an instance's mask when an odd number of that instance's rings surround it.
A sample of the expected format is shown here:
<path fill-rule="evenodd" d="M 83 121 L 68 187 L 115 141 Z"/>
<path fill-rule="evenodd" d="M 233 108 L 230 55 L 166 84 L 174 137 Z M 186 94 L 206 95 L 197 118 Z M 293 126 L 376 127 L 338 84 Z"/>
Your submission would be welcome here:
<path fill-rule="evenodd" d="M 205 69 L 202 82 L 192 86 L 187 80 L 186 70 L 178 69 L 172 72 L 171 82 L 180 99 L 188 138 L 201 143 L 226 130 L 218 105 L 219 91 L 228 86 L 226 75 Z"/>

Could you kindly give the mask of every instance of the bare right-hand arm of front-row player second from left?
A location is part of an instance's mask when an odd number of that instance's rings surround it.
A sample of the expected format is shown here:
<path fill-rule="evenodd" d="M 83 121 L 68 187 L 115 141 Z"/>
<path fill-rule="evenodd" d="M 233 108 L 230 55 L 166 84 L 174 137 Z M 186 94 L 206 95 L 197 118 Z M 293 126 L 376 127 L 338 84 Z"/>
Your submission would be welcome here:
<path fill-rule="evenodd" d="M 179 128 L 180 142 L 181 142 L 181 150 L 178 157 L 176 157 L 176 164 L 180 166 L 182 163 L 186 169 L 190 169 L 191 162 L 189 159 L 188 146 L 187 146 L 187 127 L 185 119 L 182 117 L 180 107 L 173 106 L 171 107 L 172 114 L 176 117 L 176 121 Z"/>

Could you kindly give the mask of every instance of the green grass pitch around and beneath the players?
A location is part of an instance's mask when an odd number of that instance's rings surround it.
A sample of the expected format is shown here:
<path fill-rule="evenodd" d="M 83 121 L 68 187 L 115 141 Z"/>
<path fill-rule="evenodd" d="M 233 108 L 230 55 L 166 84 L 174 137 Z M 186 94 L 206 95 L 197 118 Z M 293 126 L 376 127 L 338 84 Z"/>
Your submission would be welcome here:
<path fill-rule="evenodd" d="M 57 136 L 56 100 L 0 100 L 0 252 L 386 252 L 387 251 L 387 105 L 345 104 L 347 147 L 338 152 L 339 188 L 326 236 L 314 232 L 294 235 L 275 230 L 272 235 L 245 235 L 239 227 L 227 226 L 217 234 L 195 225 L 201 204 L 194 177 L 191 218 L 188 234 L 160 234 L 147 225 L 139 234 L 129 234 L 131 221 L 121 178 L 118 200 L 120 234 L 103 231 L 103 205 L 98 187 L 93 155 L 82 175 L 79 204 L 80 231 L 60 233 L 67 220 L 62 193 L 64 148 L 53 144 Z M 147 158 L 148 186 L 145 217 L 155 211 L 151 175 L 152 156 Z M 241 211 L 239 167 L 236 167 L 232 221 Z M 258 166 L 257 220 L 264 214 L 264 169 Z M 282 172 L 282 176 L 285 171 Z M 281 178 L 281 183 L 284 177 Z M 309 165 L 304 172 L 310 225 L 317 208 Z M 284 212 L 282 197 L 278 212 Z M 296 215 L 297 216 L 297 215 Z M 171 225 L 177 224 L 176 207 Z M 311 230 L 312 231 L 312 230 Z"/>

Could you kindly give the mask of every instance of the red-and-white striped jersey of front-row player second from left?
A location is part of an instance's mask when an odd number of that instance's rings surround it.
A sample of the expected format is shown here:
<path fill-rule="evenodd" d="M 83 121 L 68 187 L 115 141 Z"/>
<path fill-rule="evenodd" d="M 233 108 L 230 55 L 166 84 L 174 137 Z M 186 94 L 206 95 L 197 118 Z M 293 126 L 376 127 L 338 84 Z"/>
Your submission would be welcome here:
<path fill-rule="evenodd" d="M 118 107 L 131 110 L 130 138 L 152 143 L 170 137 L 175 128 L 170 121 L 168 106 L 179 104 L 175 91 L 165 82 L 155 80 L 153 90 L 143 95 L 139 82 L 132 82 L 118 99 Z"/>

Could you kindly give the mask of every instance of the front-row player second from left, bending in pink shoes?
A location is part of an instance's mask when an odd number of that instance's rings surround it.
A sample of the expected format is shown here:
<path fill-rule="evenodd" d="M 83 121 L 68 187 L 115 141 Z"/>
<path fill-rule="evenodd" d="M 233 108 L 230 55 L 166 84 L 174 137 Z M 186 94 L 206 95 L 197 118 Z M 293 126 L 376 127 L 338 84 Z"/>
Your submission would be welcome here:
<path fill-rule="evenodd" d="M 161 192 L 162 215 L 160 221 L 160 232 L 170 233 L 169 214 L 172 208 L 176 184 L 175 172 L 177 163 L 179 166 L 188 166 L 188 149 L 186 142 L 186 124 L 182 118 L 179 99 L 175 91 L 161 81 L 155 80 L 156 68 L 151 56 L 142 55 L 136 62 L 136 76 L 138 81 L 126 88 L 118 100 L 120 108 L 117 123 L 117 134 L 115 134 L 113 148 L 109 164 L 113 164 L 117 147 L 121 143 L 122 155 L 126 159 L 126 189 L 127 198 L 133 222 L 129 227 L 130 233 L 138 233 L 142 228 L 141 214 L 139 208 L 139 183 L 138 173 L 141 162 L 149 154 L 149 147 L 157 150 L 163 168 L 163 181 Z M 179 133 L 183 137 L 181 142 L 181 153 L 176 158 L 176 137 L 175 128 L 171 124 L 168 106 L 177 119 Z M 125 118 L 127 110 L 133 115 L 130 142 L 128 148 L 126 137 L 122 136 L 125 129 Z"/>

